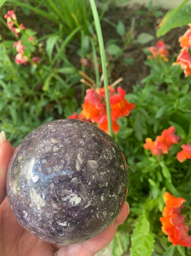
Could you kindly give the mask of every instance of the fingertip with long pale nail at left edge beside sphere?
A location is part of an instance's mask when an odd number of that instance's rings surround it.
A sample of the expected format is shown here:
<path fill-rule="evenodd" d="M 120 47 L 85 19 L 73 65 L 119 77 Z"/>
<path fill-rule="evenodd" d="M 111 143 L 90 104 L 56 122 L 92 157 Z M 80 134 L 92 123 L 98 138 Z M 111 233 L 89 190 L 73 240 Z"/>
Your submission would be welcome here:
<path fill-rule="evenodd" d="M 0 133 L 0 204 L 6 197 L 6 173 L 13 149 L 8 140 L 5 139 L 5 133 Z"/>

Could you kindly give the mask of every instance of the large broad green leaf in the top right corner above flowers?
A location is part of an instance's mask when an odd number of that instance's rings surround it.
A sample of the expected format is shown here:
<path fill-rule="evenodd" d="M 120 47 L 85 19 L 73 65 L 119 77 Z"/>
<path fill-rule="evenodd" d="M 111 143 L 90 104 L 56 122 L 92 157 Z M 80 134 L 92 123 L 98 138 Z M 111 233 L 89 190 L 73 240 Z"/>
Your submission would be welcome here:
<path fill-rule="evenodd" d="M 177 12 L 175 12 L 174 15 L 170 15 L 169 17 L 169 14 L 171 14 L 171 12 L 168 12 L 167 15 L 164 16 L 163 18 L 164 23 L 157 30 L 157 37 L 161 37 L 165 35 L 172 28 L 186 26 L 188 23 L 191 22 L 191 5 L 190 4 L 183 6 Z"/>

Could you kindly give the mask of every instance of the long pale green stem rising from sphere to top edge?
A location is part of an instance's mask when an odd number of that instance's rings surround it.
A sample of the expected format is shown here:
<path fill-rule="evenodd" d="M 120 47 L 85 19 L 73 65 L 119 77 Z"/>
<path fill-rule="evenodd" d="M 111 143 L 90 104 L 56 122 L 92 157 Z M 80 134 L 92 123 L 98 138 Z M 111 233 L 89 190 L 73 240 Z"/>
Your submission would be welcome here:
<path fill-rule="evenodd" d="M 102 66 L 102 72 L 104 76 L 106 110 L 107 110 L 107 117 L 108 117 L 108 130 L 109 130 L 109 135 L 112 136 L 111 107 L 110 107 L 110 101 L 109 101 L 108 76 L 107 76 L 107 69 L 106 69 L 104 40 L 102 36 L 101 25 L 100 25 L 99 15 L 97 13 L 95 0 L 89 0 L 89 1 L 90 1 L 92 14 L 94 17 L 95 29 L 97 32 L 97 39 L 98 39 L 99 48 L 100 48 L 101 66 Z"/>

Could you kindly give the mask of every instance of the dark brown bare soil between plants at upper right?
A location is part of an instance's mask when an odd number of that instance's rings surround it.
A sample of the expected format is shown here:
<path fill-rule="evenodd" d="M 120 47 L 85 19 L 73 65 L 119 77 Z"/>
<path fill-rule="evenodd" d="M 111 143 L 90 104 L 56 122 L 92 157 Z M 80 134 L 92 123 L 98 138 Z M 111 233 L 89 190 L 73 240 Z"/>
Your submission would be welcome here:
<path fill-rule="evenodd" d="M 142 10 L 144 13 L 142 15 L 138 15 L 136 14 L 137 10 Z M 164 14 L 166 14 L 167 10 L 161 9 L 161 12 L 161 17 L 154 17 L 152 13 L 148 13 L 148 9 L 144 5 L 140 6 L 139 4 L 135 4 L 131 8 L 128 6 L 123 8 L 115 8 L 114 10 L 108 10 L 104 14 L 104 18 L 115 24 L 117 24 L 118 21 L 122 21 L 125 25 L 126 32 L 130 31 L 132 19 L 135 18 L 135 26 L 131 35 L 132 43 L 126 47 L 123 54 L 118 59 L 114 59 L 113 56 L 107 54 L 107 58 L 110 63 L 110 66 L 108 67 L 109 82 L 111 84 L 122 77 L 123 80 L 119 83 L 119 85 L 126 91 L 126 93 L 132 92 L 133 85 L 142 85 L 142 79 L 150 73 L 150 68 L 144 65 L 147 57 L 143 52 L 143 49 L 148 49 L 149 46 L 156 45 L 159 39 L 165 42 L 166 48 L 169 51 L 169 58 L 171 58 L 174 54 L 177 55 L 181 49 L 178 42 L 178 37 L 180 37 L 187 30 L 187 27 L 175 28 L 161 38 L 156 37 L 157 26 L 161 22 L 161 19 L 163 18 Z M 146 23 L 141 25 L 142 21 L 146 21 Z M 107 47 L 107 42 L 111 39 L 117 40 L 117 44 L 121 48 L 124 47 L 121 37 L 111 24 L 102 20 L 101 28 L 105 48 Z M 137 44 L 135 40 L 140 33 L 143 32 L 153 35 L 154 39 L 145 45 Z M 67 49 L 68 56 L 71 62 L 76 67 L 80 68 L 76 51 L 77 46 L 69 45 Z M 133 64 L 125 64 L 123 60 L 124 58 L 133 58 Z"/>

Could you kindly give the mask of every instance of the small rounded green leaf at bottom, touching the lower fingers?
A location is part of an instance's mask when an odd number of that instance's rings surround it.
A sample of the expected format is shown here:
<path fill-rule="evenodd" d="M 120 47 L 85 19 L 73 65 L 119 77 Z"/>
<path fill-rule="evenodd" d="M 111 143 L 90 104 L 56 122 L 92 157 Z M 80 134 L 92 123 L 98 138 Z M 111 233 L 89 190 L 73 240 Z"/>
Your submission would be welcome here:
<path fill-rule="evenodd" d="M 116 232 L 115 237 L 110 243 L 110 248 L 114 256 L 122 255 L 128 248 L 130 243 L 128 233 Z"/>

